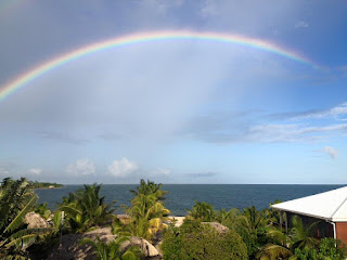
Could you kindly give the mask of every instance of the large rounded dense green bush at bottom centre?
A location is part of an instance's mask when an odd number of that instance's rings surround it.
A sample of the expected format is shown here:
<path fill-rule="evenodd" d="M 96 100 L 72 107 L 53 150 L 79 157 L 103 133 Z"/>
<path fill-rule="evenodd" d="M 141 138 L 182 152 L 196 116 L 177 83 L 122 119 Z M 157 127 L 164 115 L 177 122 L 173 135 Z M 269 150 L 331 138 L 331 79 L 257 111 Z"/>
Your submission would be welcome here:
<path fill-rule="evenodd" d="M 233 231 L 218 233 L 209 225 L 188 220 L 181 227 L 170 226 L 162 245 L 164 259 L 248 259 L 247 248 Z"/>

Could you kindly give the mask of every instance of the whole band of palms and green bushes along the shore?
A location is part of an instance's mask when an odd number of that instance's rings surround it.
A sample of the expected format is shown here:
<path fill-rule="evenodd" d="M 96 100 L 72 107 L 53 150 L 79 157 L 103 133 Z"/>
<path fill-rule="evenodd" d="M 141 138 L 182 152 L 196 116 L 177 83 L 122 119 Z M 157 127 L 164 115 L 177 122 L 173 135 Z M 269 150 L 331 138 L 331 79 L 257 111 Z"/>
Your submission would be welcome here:
<path fill-rule="evenodd" d="M 0 259 L 46 259 L 56 248 L 63 234 L 85 234 L 99 226 L 108 226 L 114 239 L 85 238 L 98 259 L 140 259 L 141 248 L 131 237 L 162 244 L 164 259 L 260 259 L 260 260 L 342 260 L 346 247 L 333 238 L 314 236 L 319 222 L 304 224 L 293 216 L 291 229 L 281 225 L 285 216 L 271 207 L 257 210 L 254 206 L 215 210 L 213 205 L 197 202 L 188 209 L 181 226 L 168 218 L 166 191 L 152 181 L 140 181 L 128 218 L 114 214 L 116 202 L 106 203 L 101 185 L 83 185 L 62 198 L 55 211 L 47 204 L 37 204 L 38 196 L 24 178 L 3 179 L 0 186 Z M 275 202 L 279 203 L 279 202 Z M 28 229 L 24 219 L 36 212 L 48 223 L 46 229 Z M 216 226 L 222 226 L 218 230 Z M 127 246 L 126 246 L 127 245 Z"/>

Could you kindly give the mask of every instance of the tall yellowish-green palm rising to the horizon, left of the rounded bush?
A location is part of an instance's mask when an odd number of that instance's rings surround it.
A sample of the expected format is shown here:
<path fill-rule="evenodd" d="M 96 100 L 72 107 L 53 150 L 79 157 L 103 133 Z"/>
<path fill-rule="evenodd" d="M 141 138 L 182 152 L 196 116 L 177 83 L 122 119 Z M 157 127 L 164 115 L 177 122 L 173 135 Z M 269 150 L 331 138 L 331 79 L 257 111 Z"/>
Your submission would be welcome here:
<path fill-rule="evenodd" d="M 155 238 L 157 232 L 166 227 L 164 223 L 170 211 L 164 206 L 162 184 L 141 180 L 137 191 L 131 191 L 134 197 L 127 212 L 131 217 L 131 233 L 147 240 Z"/>

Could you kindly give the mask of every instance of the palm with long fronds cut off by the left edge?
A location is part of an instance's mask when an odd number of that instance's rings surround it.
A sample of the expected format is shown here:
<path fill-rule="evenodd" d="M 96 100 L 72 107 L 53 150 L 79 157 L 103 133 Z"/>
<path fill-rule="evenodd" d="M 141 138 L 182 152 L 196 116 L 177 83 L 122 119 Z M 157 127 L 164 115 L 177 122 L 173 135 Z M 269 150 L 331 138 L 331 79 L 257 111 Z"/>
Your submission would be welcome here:
<path fill-rule="evenodd" d="M 25 249 L 50 229 L 27 229 L 25 214 L 33 210 L 38 196 L 26 179 L 3 179 L 0 187 L 0 258 L 27 259 Z"/>

